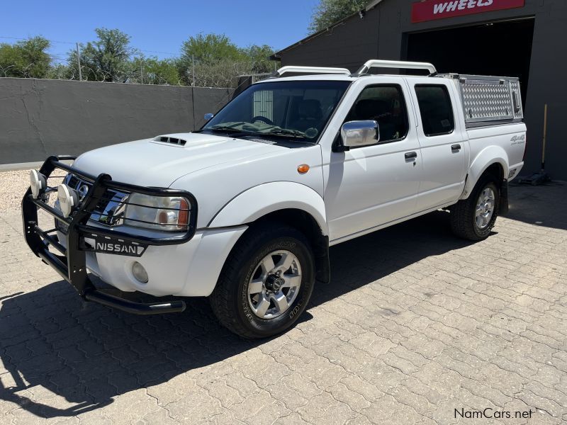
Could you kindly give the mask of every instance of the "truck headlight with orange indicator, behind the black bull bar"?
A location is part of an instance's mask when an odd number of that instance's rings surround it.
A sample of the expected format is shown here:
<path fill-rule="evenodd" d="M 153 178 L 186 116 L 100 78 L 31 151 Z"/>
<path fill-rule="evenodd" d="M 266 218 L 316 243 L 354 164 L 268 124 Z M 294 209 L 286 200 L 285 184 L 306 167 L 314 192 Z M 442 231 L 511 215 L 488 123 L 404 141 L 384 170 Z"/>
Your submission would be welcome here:
<path fill-rule="evenodd" d="M 126 200 L 124 224 L 179 232 L 187 229 L 190 213 L 186 198 L 132 193 Z"/>

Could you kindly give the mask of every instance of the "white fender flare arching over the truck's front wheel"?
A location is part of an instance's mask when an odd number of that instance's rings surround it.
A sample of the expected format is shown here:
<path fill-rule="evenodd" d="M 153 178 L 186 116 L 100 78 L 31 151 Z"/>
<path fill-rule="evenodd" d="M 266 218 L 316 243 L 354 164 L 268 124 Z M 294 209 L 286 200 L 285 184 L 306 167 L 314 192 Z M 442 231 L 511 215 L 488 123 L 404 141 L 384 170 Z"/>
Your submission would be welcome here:
<path fill-rule="evenodd" d="M 323 236 L 329 234 L 325 201 L 312 188 L 292 181 L 274 181 L 247 189 L 232 198 L 207 227 L 232 227 L 254 222 L 270 212 L 296 209 L 310 214 Z"/>

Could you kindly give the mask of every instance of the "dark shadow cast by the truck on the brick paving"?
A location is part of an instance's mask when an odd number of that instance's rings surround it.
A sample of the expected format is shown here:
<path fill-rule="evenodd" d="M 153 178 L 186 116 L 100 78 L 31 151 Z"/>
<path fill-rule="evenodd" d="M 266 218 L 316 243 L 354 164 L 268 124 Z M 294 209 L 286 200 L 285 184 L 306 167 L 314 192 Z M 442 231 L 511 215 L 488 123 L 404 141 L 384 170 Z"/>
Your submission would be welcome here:
<path fill-rule="evenodd" d="M 332 282 L 315 287 L 311 306 L 467 244 L 450 234 L 447 212 L 345 242 L 331 249 Z M 220 327 L 205 299 L 189 299 L 183 314 L 141 317 L 84 303 L 65 281 L 4 299 L 0 325 L 1 360 L 16 382 L 0 388 L 0 397 L 48 418 L 105 406 L 116 395 L 262 344 Z M 34 402 L 22 392 L 28 388 L 33 394 L 34 387 L 74 405 L 59 409 Z"/>

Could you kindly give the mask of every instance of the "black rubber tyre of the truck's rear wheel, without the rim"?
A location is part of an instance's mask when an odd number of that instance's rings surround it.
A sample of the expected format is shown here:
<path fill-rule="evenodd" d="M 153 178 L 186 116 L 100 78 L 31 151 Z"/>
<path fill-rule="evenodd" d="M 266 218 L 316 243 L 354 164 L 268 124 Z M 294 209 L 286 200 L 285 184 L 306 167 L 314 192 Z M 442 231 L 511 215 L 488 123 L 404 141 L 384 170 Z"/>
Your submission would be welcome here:
<path fill-rule="evenodd" d="M 488 226 L 484 228 L 478 227 L 476 223 L 476 205 L 478 196 L 485 188 L 490 188 L 495 194 L 495 204 L 493 215 L 490 217 Z M 468 198 L 459 200 L 458 203 L 451 207 L 451 231 L 458 237 L 468 239 L 469 241 L 481 241 L 486 239 L 494 227 L 498 211 L 500 209 L 500 188 L 496 183 L 494 176 L 485 174 L 478 180 L 474 186 L 471 195 Z"/>

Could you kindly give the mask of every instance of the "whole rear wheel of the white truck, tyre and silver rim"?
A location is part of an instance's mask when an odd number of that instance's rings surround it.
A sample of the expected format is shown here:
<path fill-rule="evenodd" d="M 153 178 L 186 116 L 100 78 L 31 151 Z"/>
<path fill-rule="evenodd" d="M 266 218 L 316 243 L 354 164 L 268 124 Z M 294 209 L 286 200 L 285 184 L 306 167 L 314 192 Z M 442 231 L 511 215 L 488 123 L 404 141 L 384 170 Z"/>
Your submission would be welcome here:
<path fill-rule="evenodd" d="M 471 241 L 486 239 L 494 227 L 500 190 L 493 176 L 486 174 L 476 183 L 471 195 L 451 208 L 451 230 Z"/>

